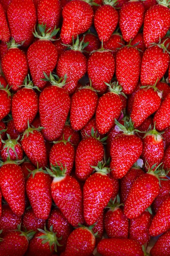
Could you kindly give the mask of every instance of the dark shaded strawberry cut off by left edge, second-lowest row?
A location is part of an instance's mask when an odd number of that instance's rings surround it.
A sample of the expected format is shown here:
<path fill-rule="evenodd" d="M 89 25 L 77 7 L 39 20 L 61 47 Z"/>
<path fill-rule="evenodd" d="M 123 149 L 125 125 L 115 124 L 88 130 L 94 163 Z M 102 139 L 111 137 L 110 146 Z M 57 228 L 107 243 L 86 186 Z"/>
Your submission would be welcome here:
<path fill-rule="evenodd" d="M 17 229 L 17 225 L 19 225 L 21 221 L 22 216 L 18 216 L 12 212 L 8 204 L 3 204 L 2 214 L 0 216 L 0 230 L 3 229 L 3 231 L 0 236 L 3 237 L 6 233 Z"/>

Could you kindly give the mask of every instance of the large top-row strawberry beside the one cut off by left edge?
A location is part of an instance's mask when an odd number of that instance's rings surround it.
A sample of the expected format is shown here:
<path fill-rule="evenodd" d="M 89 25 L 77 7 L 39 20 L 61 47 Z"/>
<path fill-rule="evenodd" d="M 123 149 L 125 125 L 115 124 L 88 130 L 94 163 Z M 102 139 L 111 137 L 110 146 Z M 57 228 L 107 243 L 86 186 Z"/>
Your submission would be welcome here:
<path fill-rule="evenodd" d="M 8 6 L 7 17 L 11 36 L 16 43 L 23 42 L 24 47 L 28 47 L 33 39 L 32 34 L 37 22 L 37 15 L 32 0 L 11 0 Z"/>

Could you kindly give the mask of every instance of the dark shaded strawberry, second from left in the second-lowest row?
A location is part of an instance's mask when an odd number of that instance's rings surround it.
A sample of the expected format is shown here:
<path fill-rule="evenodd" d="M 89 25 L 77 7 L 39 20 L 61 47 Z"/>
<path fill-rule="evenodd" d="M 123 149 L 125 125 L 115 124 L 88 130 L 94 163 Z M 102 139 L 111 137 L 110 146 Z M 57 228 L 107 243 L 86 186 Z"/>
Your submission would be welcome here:
<path fill-rule="evenodd" d="M 34 230 L 34 231 L 38 232 L 37 229 L 44 228 L 45 223 L 46 223 L 46 220 L 37 218 L 34 215 L 34 212 L 32 209 L 28 209 L 24 212 L 23 221 L 22 221 L 23 229 L 25 227 L 26 230 Z"/>

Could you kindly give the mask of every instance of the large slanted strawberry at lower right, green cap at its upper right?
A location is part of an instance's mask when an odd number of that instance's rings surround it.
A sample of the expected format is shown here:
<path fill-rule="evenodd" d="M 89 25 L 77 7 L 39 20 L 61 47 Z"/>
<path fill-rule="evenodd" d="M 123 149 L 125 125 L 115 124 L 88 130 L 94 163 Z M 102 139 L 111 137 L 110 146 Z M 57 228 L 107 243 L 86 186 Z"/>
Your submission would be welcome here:
<path fill-rule="evenodd" d="M 133 183 L 125 201 L 124 213 L 133 219 L 147 209 L 159 194 L 159 176 L 153 172 L 153 166 L 144 175 L 139 176 Z M 148 196 L 149 195 L 149 196 Z"/>

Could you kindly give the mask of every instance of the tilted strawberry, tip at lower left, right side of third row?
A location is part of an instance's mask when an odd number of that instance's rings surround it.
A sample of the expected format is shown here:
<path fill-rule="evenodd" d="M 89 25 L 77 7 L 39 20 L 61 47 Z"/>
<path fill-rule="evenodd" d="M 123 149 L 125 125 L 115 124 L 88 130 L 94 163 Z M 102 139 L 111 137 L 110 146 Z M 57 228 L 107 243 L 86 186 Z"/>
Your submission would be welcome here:
<path fill-rule="evenodd" d="M 139 89 L 134 96 L 130 114 L 134 127 L 139 127 L 148 116 L 159 109 L 160 105 L 161 95 L 159 91 L 152 87 Z"/>

